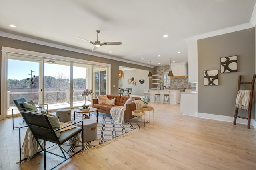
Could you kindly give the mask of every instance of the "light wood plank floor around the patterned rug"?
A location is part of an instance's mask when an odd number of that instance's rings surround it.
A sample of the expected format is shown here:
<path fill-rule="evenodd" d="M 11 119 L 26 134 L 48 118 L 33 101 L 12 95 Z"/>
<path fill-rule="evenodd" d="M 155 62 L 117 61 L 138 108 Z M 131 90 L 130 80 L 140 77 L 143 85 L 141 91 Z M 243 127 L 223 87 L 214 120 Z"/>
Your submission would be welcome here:
<path fill-rule="evenodd" d="M 71 158 L 60 170 L 256 170 L 256 131 L 246 125 L 180 113 L 179 104 L 154 104 L 155 123 L 104 147 Z M 18 118 L 17 118 L 18 119 Z M 136 119 L 136 118 L 135 118 Z M 43 154 L 22 164 L 18 129 L 0 121 L 0 169 L 43 169 Z M 49 158 L 49 156 L 48 156 Z M 54 165 L 54 157 L 49 166 Z"/>

